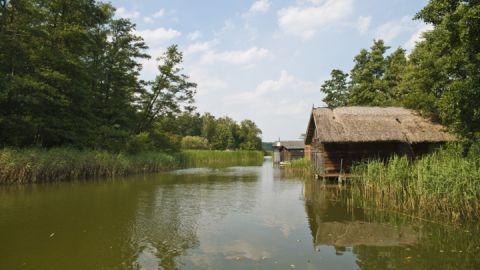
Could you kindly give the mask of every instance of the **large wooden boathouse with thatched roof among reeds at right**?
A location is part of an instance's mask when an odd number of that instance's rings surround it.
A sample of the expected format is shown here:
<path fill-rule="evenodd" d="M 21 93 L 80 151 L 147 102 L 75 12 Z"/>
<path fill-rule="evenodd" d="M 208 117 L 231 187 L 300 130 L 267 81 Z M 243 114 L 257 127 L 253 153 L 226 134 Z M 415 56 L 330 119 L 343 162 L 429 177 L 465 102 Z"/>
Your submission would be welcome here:
<path fill-rule="evenodd" d="M 314 108 L 305 157 L 325 174 L 338 174 L 361 160 L 394 154 L 415 158 L 452 140 L 443 126 L 405 108 Z"/>

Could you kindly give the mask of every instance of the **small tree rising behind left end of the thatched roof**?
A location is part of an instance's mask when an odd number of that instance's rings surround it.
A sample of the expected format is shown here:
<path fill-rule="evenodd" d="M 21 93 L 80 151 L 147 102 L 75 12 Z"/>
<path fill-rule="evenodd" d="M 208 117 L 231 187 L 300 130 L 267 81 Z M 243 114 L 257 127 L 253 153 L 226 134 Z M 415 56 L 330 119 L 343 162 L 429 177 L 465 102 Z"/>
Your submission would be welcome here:
<path fill-rule="evenodd" d="M 326 80 L 320 91 L 325 94 L 323 102 L 330 108 L 346 106 L 349 104 L 350 89 L 348 87 L 348 74 L 334 69 L 330 73 L 331 79 Z"/>

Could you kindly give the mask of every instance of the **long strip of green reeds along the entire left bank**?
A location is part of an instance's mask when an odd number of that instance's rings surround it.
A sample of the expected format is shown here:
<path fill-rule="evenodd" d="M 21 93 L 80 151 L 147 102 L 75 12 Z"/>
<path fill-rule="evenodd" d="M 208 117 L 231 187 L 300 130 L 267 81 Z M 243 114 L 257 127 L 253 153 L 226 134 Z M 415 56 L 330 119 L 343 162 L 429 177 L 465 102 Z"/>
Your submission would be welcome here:
<path fill-rule="evenodd" d="M 71 148 L 4 148 L 0 149 L 0 184 L 105 178 L 218 164 L 261 164 L 262 160 L 262 152 L 255 151 L 205 150 L 173 155 L 159 152 L 128 155 Z"/>

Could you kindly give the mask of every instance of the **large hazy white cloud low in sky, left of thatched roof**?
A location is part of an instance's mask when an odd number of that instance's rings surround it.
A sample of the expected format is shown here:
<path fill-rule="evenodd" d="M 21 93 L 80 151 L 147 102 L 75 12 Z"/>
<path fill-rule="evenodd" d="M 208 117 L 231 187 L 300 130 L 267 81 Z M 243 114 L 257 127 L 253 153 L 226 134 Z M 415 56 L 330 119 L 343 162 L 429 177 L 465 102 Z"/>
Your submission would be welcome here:
<path fill-rule="evenodd" d="M 258 83 L 254 90 L 226 94 L 221 103 L 231 115 L 253 119 L 263 130 L 264 140 L 279 135 L 296 139 L 305 132 L 312 103 L 321 103 L 318 85 L 282 71 L 277 78 Z M 288 129 L 282 128 L 285 123 L 289 123 Z"/>

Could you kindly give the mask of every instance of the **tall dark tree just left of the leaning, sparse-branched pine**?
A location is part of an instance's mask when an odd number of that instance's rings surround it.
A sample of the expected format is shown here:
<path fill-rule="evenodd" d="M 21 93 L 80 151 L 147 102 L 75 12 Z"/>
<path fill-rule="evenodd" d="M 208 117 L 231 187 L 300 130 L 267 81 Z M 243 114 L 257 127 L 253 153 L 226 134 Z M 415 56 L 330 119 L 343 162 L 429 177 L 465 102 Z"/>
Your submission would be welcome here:
<path fill-rule="evenodd" d="M 98 29 L 96 46 L 91 50 L 90 74 L 93 111 L 98 119 L 97 147 L 116 142 L 118 150 L 137 125 L 137 96 L 144 84 L 139 80 L 139 59 L 149 58 L 143 39 L 133 34 L 128 20 L 111 20 L 110 27 Z"/>

